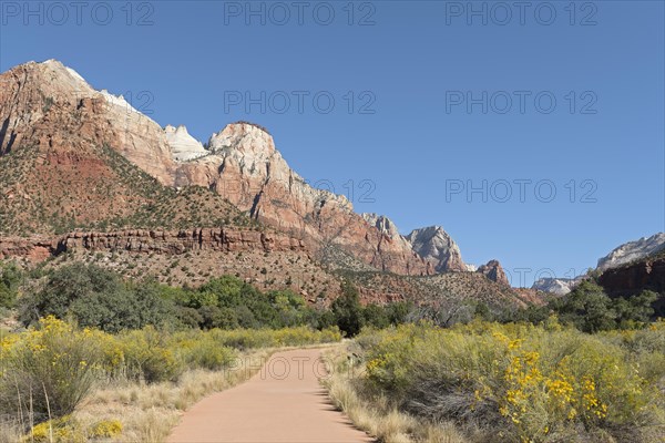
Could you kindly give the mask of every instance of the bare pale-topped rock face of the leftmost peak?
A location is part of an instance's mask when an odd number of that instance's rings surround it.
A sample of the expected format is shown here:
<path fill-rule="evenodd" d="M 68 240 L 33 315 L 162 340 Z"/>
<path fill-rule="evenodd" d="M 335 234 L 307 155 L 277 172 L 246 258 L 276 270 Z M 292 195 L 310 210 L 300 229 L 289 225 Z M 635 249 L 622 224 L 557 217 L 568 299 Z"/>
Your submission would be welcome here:
<path fill-rule="evenodd" d="M 175 164 L 160 125 L 58 61 L 30 62 L 0 75 L 0 155 L 24 146 L 75 155 L 106 144 L 173 184 Z"/>

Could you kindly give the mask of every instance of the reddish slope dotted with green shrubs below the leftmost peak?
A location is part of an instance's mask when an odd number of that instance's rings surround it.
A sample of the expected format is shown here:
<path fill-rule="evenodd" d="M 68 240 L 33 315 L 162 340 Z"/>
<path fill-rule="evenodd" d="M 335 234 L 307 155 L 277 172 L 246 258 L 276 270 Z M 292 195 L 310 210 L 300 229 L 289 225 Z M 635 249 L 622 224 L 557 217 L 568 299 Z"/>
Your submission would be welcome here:
<path fill-rule="evenodd" d="M 0 156 L 0 233 L 9 235 L 59 235 L 78 228 L 259 228 L 215 192 L 164 186 L 105 145 L 76 153 L 18 147 Z"/>

